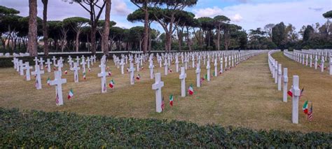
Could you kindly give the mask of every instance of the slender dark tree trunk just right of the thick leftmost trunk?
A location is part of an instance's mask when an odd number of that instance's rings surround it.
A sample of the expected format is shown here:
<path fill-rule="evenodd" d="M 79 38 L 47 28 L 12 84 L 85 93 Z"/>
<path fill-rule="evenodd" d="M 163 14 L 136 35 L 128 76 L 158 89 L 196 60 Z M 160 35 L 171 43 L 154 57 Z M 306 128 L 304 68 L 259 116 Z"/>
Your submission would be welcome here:
<path fill-rule="evenodd" d="M 41 0 L 43 2 L 43 41 L 44 41 L 44 55 L 48 56 L 48 27 L 47 27 L 47 4 L 48 0 Z"/>

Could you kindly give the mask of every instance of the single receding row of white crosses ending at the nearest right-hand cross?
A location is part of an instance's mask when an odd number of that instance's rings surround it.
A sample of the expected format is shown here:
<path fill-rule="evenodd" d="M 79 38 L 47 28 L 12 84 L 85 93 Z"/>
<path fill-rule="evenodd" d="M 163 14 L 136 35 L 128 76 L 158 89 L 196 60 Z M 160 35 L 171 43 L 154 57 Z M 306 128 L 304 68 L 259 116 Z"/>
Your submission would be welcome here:
<path fill-rule="evenodd" d="M 282 77 L 282 64 L 278 62 L 271 56 L 274 52 L 279 52 L 280 50 L 271 50 L 268 52 L 268 64 L 270 71 L 272 73 L 272 78 L 275 78 L 275 83 L 277 83 L 277 89 L 282 90 L 282 78 L 284 80 L 284 90 L 283 90 L 283 101 L 287 102 L 287 92 L 288 92 L 288 69 L 284 68 L 284 76 Z M 292 113 L 291 120 L 294 124 L 298 124 L 298 99 L 300 98 L 300 89 L 299 89 L 299 78 L 298 76 L 293 76 L 293 85 L 291 88 L 293 93 L 292 99 Z"/>

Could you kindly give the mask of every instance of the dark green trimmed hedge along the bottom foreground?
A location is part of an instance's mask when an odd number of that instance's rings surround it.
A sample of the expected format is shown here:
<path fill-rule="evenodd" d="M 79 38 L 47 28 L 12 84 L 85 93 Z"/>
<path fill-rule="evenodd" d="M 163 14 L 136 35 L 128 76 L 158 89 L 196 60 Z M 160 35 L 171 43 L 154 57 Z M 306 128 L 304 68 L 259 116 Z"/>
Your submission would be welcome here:
<path fill-rule="evenodd" d="M 332 148 L 332 134 L 0 108 L 0 148 Z"/>

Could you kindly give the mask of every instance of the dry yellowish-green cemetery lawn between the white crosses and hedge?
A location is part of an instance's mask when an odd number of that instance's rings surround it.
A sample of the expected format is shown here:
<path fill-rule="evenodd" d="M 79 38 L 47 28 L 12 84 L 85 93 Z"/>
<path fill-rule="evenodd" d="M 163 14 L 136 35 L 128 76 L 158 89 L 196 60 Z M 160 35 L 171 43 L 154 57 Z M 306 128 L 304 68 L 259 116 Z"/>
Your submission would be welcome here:
<path fill-rule="evenodd" d="M 300 87 L 305 87 L 304 96 L 299 102 L 299 124 L 291 124 L 291 100 L 282 102 L 282 92 L 277 91 L 277 85 L 268 69 L 268 54 L 252 57 L 242 62 L 236 68 L 226 71 L 221 76 L 212 77 L 202 87 L 195 87 L 195 69 L 186 71 L 186 87 L 194 85 L 195 94 L 191 97 L 180 97 L 179 73 L 164 76 L 164 68 L 159 68 L 155 62 L 155 72 L 162 73 L 162 94 L 165 97 L 165 111 L 155 113 L 155 91 L 151 89 L 154 80 L 150 80 L 148 62 L 144 70 L 139 71 L 141 80 L 134 85 L 129 84 L 129 74 L 120 74 L 120 69 L 109 60 L 112 76 L 107 80 L 115 81 L 115 89 L 108 87 L 106 93 L 101 93 L 100 78 L 97 73 L 99 62 L 87 72 L 87 80 L 83 80 L 80 71 L 79 83 L 74 83 L 74 73 L 63 74 L 67 78 L 64 84 L 64 105 L 55 106 L 55 87 L 48 86 L 46 80 L 54 79 L 54 73 L 42 75 L 43 89 L 36 90 L 34 81 L 25 81 L 23 76 L 13 68 L 0 69 L 0 106 L 4 108 L 36 109 L 41 111 L 69 111 L 79 115 L 109 115 L 125 118 L 157 118 L 168 120 L 184 120 L 198 125 L 217 124 L 251 129 L 282 129 L 301 132 L 331 132 L 332 131 L 332 81 L 328 73 L 320 73 L 312 68 L 305 68 L 291 61 L 278 52 L 272 55 L 282 66 L 289 68 L 289 84 L 291 76 L 300 76 Z M 188 66 L 191 66 L 191 63 Z M 218 66 L 219 67 L 219 66 Z M 62 71 L 68 69 L 64 64 Z M 205 66 L 201 67 L 201 76 L 205 75 Z M 88 69 L 87 69 L 88 70 Z M 211 74 L 214 70 L 212 62 Z M 137 71 L 135 71 L 135 76 Z M 33 76 L 32 76 L 32 80 Z M 290 85 L 289 85 L 290 87 Z M 74 97 L 67 99 L 70 89 Z M 168 103 L 170 94 L 174 94 L 174 106 Z M 313 101 L 314 121 L 307 122 L 302 112 L 305 100 Z"/>

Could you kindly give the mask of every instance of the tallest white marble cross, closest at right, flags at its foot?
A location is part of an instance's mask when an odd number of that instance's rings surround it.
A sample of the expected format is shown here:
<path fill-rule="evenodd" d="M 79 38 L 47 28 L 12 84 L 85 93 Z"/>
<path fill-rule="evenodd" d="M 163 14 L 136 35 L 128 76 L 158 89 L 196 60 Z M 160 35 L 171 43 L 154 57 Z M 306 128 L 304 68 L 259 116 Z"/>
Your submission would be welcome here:
<path fill-rule="evenodd" d="M 300 88 L 298 87 L 298 84 L 298 76 L 293 76 L 293 89 L 291 90 L 293 93 L 291 120 L 294 124 L 298 124 L 298 100 L 300 99 Z"/>

